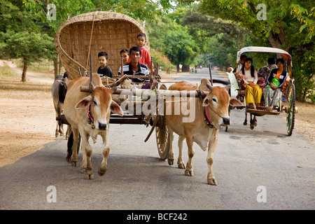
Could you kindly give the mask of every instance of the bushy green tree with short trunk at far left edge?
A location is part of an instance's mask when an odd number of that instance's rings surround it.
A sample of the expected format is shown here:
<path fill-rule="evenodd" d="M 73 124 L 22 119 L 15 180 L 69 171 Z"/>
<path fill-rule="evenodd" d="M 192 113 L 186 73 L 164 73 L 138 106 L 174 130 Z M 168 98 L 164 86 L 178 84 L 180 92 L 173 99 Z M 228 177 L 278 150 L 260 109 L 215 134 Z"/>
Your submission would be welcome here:
<path fill-rule="evenodd" d="M 54 52 L 53 39 L 41 34 L 41 28 L 34 23 L 36 15 L 30 16 L 22 1 L 1 0 L 0 55 L 22 58 L 22 82 L 26 82 L 27 66 L 42 58 L 51 58 Z"/>

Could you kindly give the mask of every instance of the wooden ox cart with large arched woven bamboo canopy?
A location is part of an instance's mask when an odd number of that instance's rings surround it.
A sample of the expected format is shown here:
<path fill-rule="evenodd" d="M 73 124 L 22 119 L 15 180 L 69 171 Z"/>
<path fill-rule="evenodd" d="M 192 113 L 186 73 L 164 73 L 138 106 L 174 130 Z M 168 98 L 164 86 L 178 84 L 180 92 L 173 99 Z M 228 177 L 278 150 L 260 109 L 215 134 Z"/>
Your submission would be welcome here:
<path fill-rule="evenodd" d="M 151 67 L 151 73 L 146 77 L 118 75 L 120 67 L 123 71 L 123 59 L 120 57 L 120 50 L 129 49 L 136 45 L 137 34 L 141 32 L 144 33 L 145 31 L 139 22 L 127 15 L 102 11 L 84 13 L 66 20 L 59 27 L 55 45 L 59 59 L 71 80 L 80 76 L 91 76 L 92 79 L 92 72 L 97 71 L 97 60 L 92 60 L 92 57 L 95 58 L 100 51 L 106 51 L 109 55 L 108 65 L 113 71 L 113 78 L 120 78 L 119 80 L 104 79 L 104 85 L 117 86 L 125 78 L 148 78 L 150 80 L 151 88 L 148 90 L 117 88 L 113 94 L 131 96 L 132 102 L 128 104 L 128 110 L 124 111 L 123 117 L 111 114 L 110 123 L 146 125 L 147 127 L 151 125 L 151 130 L 145 141 L 151 137 L 155 130 L 158 153 L 160 158 L 165 160 L 169 151 L 169 132 L 165 123 L 165 111 L 159 105 L 165 104 L 167 96 L 182 97 L 183 92 L 167 90 L 167 87 L 160 82 L 158 64 L 155 65 L 155 73 Z M 149 49 L 148 42 L 146 48 Z M 90 86 L 81 87 L 83 92 L 89 92 L 90 89 Z M 199 92 L 199 94 L 197 92 L 185 92 L 185 97 L 202 98 L 207 93 L 209 92 Z M 137 106 L 144 104 L 150 104 L 150 113 L 137 112 Z M 57 120 L 63 119 L 57 118 Z M 63 123 L 66 123 L 66 120 Z"/>

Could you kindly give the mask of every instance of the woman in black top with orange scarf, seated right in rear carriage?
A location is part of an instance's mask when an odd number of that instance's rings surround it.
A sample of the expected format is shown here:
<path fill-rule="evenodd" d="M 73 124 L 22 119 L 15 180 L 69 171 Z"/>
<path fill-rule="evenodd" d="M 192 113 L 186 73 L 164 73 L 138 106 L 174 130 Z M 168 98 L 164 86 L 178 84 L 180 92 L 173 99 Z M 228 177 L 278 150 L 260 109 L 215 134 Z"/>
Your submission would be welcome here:
<path fill-rule="evenodd" d="M 272 111 L 272 109 L 276 109 L 276 106 L 280 106 L 279 103 L 282 97 L 281 88 L 288 76 L 288 73 L 284 69 L 284 59 L 276 59 L 276 66 L 278 66 L 278 68 L 273 69 L 269 73 L 267 86 L 263 91 L 267 111 Z"/>

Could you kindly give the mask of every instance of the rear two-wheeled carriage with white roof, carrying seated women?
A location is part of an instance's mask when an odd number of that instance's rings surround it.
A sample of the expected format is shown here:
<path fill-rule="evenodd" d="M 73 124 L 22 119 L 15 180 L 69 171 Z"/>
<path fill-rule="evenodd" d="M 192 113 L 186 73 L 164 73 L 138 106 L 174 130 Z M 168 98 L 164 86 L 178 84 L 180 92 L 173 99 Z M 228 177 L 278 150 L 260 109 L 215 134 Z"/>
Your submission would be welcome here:
<path fill-rule="evenodd" d="M 239 64 L 241 62 L 241 55 L 244 55 L 245 53 L 252 53 L 252 52 L 258 52 L 258 53 L 265 53 L 265 54 L 272 54 L 276 55 L 278 58 L 283 57 L 286 61 L 283 66 L 284 71 L 288 73 L 288 76 L 286 80 L 283 83 L 283 87 L 281 88 L 282 92 L 282 98 L 279 102 L 279 106 L 276 107 L 275 110 L 267 110 L 264 99 L 262 95 L 262 100 L 260 103 L 260 108 L 258 109 L 252 109 L 248 106 L 246 106 L 246 97 L 245 97 L 245 91 L 244 86 L 241 85 L 241 80 L 237 80 L 236 76 L 241 73 L 239 71 L 240 69 L 237 69 L 235 73 L 228 72 L 229 80 L 232 85 L 232 88 L 235 88 L 237 90 L 237 99 L 239 99 L 241 102 L 243 102 L 243 106 L 238 106 L 237 109 L 245 109 L 245 120 L 244 125 L 247 125 L 247 113 L 251 116 L 250 120 L 250 128 L 253 130 L 255 125 L 257 125 L 256 122 L 256 116 L 265 116 L 265 115 L 271 115 L 271 116 L 279 116 L 283 111 L 286 112 L 286 130 L 288 136 L 292 135 L 293 133 L 293 127 L 294 127 L 294 120 L 295 120 L 295 113 L 297 113 L 297 107 L 295 107 L 295 85 L 294 85 L 294 78 L 292 73 L 292 58 L 288 52 L 285 50 L 281 50 L 278 48 L 265 48 L 265 47 L 246 47 L 241 48 L 237 52 L 237 68 L 239 68 Z M 244 65 L 243 65 L 244 66 Z M 265 84 L 266 85 L 266 84 Z M 265 87 L 262 85 L 262 89 Z"/>

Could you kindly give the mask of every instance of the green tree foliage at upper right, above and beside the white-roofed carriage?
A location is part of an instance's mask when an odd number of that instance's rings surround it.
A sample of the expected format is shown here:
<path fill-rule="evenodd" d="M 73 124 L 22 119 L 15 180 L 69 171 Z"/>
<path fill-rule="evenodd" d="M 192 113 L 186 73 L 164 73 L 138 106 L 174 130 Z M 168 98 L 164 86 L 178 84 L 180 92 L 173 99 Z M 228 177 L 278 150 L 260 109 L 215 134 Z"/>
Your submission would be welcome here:
<path fill-rule="evenodd" d="M 266 20 L 257 18 L 260 3 L 266 6 Z M 200 11 L 239 22 L 253 34 L 250 36 L 253 45 L 287 50 L 293 56 L 297 99 L 304 101 L 311 96 L 315 69 L 314 4 L 302 0 L 200 1 Z"/>

